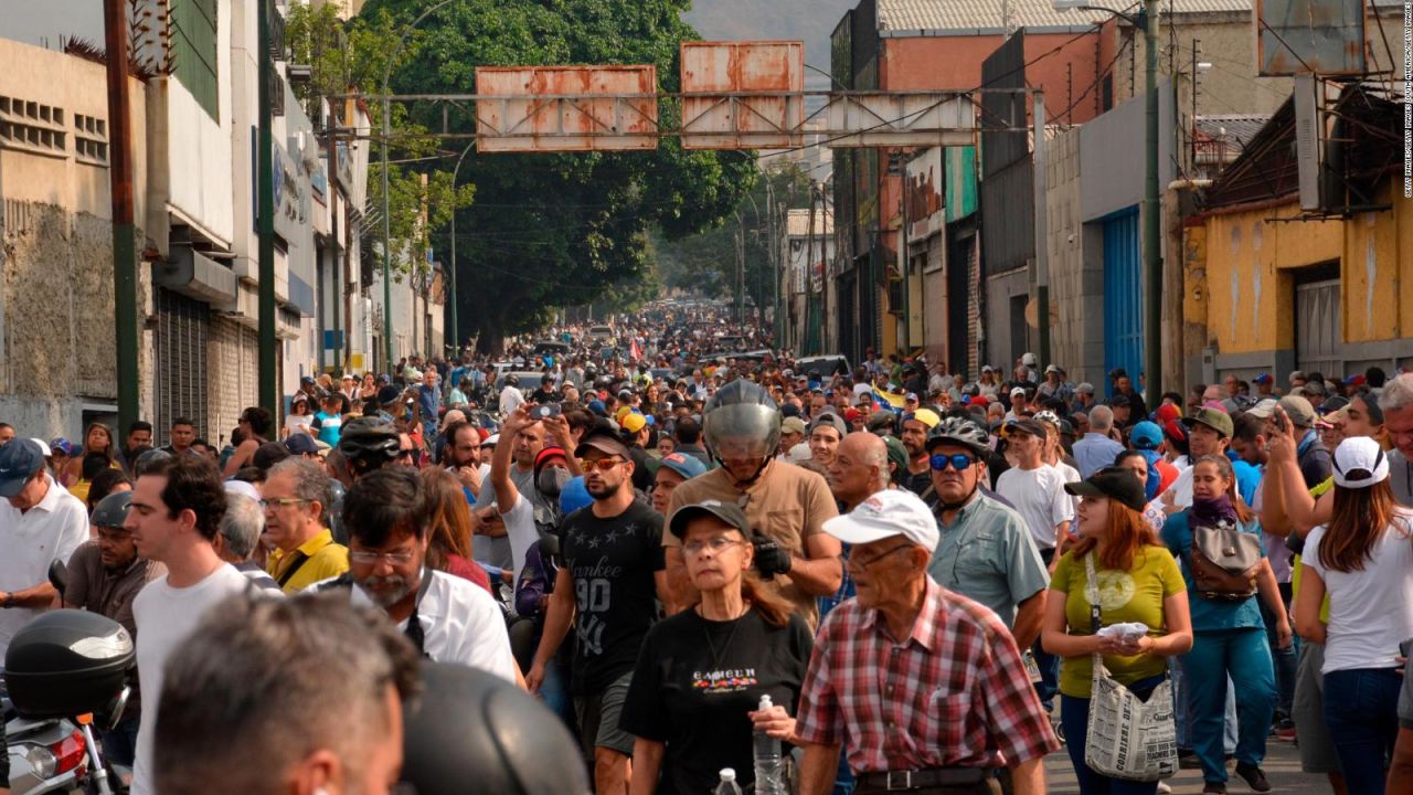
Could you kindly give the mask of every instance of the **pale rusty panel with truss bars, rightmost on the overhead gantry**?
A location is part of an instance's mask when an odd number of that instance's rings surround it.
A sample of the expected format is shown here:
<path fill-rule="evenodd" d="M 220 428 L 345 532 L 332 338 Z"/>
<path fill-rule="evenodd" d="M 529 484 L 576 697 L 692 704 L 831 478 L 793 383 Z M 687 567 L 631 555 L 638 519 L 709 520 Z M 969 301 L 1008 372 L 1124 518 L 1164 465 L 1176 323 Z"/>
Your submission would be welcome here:
<path fill-rule="evenodd" d="M 825 112 L 836 149 L 976 143 L 976 110 L 965 93 L 838 92 Z"/>

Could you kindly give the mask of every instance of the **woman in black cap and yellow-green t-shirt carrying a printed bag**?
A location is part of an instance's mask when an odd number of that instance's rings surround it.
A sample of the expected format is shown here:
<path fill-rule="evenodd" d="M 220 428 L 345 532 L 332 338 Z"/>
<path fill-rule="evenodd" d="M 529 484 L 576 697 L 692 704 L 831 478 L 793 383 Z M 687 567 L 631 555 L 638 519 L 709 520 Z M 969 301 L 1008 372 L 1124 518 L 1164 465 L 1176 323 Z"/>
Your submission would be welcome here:
<path fill-rule="evenodd" d="M 1139 458 L 1143 463 L 1143 458 Z M 1040 642 L 1064 658 L 1060 666 L 1060 721 L 1081 795 L 1150 795 L 1157 782 L 1105 777 L 1085 764 L 1094 655 L 1116 682 L 1147 700 L 1167 679 L 1167 659 L 1193 646 L 1187 584 L 1173 555 L 1143 518 L 1143 482 L 1129 467 L 1105 467 L 1081 482 L 1065 484 L 1080 497 L 1082 536 L 1056 563 Z M 1092 570 L 1091 570 L 1092 567 Z M 1099 594 L 1102 627 L 1139 622 L 1142 635 L 1104 637 L 1094 632 L 1095 605 L 1089 577 Z"/>

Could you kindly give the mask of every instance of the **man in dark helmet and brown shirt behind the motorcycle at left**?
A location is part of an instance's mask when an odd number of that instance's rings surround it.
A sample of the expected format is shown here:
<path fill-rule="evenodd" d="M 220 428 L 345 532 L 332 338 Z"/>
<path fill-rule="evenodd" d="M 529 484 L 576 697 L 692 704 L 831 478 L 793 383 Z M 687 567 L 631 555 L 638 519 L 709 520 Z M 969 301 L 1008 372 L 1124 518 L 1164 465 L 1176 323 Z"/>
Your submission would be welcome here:
<path fill-rule="evenodd" d="M 69 586 L 64 591 L 64 605 L 106 615 L 137 637 L 133 618 L 133 598 L 150 580 L 167 573 L 167 567 L 137 556 L 131 530 L 123 528 L 133 505 L 131 491 L 110 494 L 93 506 L 90 525 L 97 538 L 73 550 L 69 557 Z M 112 731 L 102 731 L 103 757 L 120 765 L 131 765 L 137 754 L 137 723 L 141 712 L 137 680 L 127 699 L 123 719 Z"/>

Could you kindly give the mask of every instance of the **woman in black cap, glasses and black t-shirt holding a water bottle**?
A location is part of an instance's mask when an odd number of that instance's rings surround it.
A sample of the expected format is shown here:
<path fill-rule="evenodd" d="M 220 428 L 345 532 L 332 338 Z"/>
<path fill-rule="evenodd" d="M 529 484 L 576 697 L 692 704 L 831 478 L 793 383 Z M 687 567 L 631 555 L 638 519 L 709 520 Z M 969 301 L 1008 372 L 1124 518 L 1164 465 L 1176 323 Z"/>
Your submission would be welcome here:
<path fill-rule="evenodd" d="M 791 605 L 752 573 L 750 522 L 733 504 L 684 505 L 667 532 L 682 542 L 701 601 L 643 639 L 620 726 L 633 745 L 632 795 L 711 792 L 718 771 L 753 784 L 752 738 L 796 740 L 812 641 Z M 760 710 L 762 696 L 774 702 Z"/>

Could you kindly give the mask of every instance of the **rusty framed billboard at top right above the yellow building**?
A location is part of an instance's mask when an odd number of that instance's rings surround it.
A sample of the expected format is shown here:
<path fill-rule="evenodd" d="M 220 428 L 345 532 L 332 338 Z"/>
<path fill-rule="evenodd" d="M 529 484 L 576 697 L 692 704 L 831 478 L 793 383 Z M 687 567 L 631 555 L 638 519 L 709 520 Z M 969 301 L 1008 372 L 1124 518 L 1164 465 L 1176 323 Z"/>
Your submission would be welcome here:
<path fill-rule="evenodd" d="M 1364 0 L 1256 0 L 1255 13 L 1260 76 L 1366 71 Z"/>

